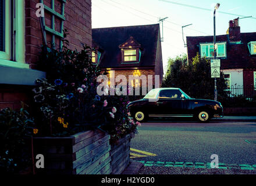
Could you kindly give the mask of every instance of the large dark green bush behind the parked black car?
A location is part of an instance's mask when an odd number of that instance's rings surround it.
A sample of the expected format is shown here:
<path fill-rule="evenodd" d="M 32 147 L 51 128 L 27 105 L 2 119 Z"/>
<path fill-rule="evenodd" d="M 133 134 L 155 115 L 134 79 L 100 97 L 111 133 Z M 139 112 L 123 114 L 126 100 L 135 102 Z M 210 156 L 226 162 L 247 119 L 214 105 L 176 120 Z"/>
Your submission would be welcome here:
<path fill-rule="evenodd" d="M 181 88 L 193 98 L 214 99 L 214 78 L 211 78 L 211 62 L 197 56 L 189 64 L 187 56 L 169 59 L 168 70 L 163 79 L 162 87 Z M 225 79 L 217 78 L 218 99 L 227 97 Z"/>

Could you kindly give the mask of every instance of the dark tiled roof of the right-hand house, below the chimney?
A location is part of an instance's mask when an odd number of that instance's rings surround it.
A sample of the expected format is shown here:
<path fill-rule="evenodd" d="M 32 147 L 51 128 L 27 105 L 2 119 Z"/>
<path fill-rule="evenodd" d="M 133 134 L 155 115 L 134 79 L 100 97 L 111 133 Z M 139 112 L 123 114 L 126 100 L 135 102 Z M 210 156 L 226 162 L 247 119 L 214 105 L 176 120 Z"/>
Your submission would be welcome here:
<path fill-rule="evenodd" d="M 199 52 L 200 43 L 213 42 L 213 36 L 187 37 L 189 60 Z M 227 42 L 227 58 L 221 58 L 221 69 L 256 69 L 256 55 L 251 55 L 248 42 L 256 41 L 256 33 L 241 33 L 241 42 L 229 42 L 229 35 L 217 35 L 216 42 Z"/>

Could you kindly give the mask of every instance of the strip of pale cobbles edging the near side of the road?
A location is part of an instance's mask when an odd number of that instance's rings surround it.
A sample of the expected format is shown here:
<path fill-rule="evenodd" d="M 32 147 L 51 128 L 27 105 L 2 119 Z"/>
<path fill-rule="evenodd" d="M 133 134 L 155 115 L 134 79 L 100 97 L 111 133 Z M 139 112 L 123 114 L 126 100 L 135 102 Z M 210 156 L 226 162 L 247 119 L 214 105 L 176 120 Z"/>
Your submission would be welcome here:
<path fill-rule="evenodd" d="M 203 162 L 150 162 L 150 161 L 137 161 L 145 167 L 158 166 L 158 167 L 194 167 L 195 169 L 240 169 L 240 170 L 256 170 L 256 164 L 226 164 L 219 163 L 219 167 L 211 167 L 211 163 Z"/>

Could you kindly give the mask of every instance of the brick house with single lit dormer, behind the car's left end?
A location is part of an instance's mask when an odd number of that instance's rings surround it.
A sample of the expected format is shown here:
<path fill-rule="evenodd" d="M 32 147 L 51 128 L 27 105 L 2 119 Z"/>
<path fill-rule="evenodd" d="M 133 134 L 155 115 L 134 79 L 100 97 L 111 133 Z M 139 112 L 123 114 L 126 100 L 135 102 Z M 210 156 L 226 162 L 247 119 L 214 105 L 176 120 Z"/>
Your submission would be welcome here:
<path fill-rule="evenodd" d="M 147 80 L 152 75 L 154 87 L 154 75 L 159 75 L 161 86 L 163 65 L 159 24 L 93 28 L 93 47 L 96 50 L 93 61 L 108 71 L 108 78 L 124 75 L 128 82 L 129 75 L 145 75 Z M 136 86 L 138 81 L 131 84 Z"/>

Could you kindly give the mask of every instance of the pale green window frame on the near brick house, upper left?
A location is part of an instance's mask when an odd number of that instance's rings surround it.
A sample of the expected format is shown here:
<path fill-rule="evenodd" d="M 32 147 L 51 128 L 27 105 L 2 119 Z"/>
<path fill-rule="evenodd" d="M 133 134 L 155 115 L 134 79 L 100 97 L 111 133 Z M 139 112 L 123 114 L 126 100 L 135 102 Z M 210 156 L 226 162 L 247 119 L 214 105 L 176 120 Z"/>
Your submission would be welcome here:
<path fill-rule="evenodd" d="M 0 51 L 0 65 L 2 66 L 29 69 L 29 64 L 25 62 L 24 9 L 24 0 L 5 1 L 5 52 Z M 15 15 L 12 15 L 12 12 L 15 12 Z M 13 31 L 15 31 L 15 41 L 11 35 Z"/>

